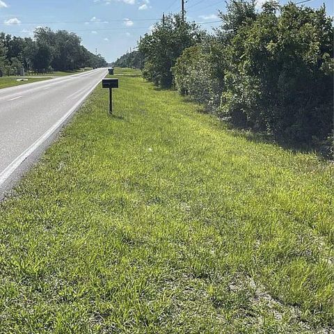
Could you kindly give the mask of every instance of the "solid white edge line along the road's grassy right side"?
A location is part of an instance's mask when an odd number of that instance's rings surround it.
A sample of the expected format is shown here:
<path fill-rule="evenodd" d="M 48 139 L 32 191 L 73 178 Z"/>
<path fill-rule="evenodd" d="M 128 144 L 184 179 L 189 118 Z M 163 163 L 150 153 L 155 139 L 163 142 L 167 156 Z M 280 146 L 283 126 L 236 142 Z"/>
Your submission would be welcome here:
<path fill-rule="evenodd" d="M 0 186 L 8 179 L 8 177 L 10 177 L 10 175 L 15 172 L 15 170 L 22 164 L 22 162 L 26 158 L 29 157 L 29 155 L 31 155 L 40 145 L 42 145 L 42 143 L 44 143 L 47 138 L 49 138 L 49 136 L 51 136 L 51 134 L 53 134 L 56 129 L 58 129 L 58 127 L 60 127 L 63 122 L 65 122 L 65 120 L 69 118 L 71 114 L 79 108 L 79 106 L 86 100 L 86 97 L 88 97 L 88 95 L 90 95 L 90 93 L 92 93 L 99 84 L 100 80 L 97 81 L 97 84 L 95 84 L 90 90 L 88 90 L 88 93 L 84 95 L 84 97 L 82 97 L 76 104 L 74 104 L 74 106 L 72 106 L 70 111 L 67 111 L 67 113 L 65 113 L 65 115 L 60 120 L 58 120 L 58 122 L 56 122 L 56 124 L 50 127 L 47 132 L 45 132 L 45 134 L 42 134 L 42 136 L 40 136 L 40 138 L 38 138 L 35 143 L 27 148 L 22 154 L 19 155 L 19 157 L 12 161 L 10 165 L 0 173 Z"/>

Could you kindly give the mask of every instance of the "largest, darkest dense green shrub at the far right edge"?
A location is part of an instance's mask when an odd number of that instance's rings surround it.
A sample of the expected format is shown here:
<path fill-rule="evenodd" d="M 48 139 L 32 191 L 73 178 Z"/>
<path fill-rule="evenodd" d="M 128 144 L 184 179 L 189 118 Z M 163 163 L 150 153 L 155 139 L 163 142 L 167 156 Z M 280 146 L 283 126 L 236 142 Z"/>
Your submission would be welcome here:
<path fill-rule="evenodd" d="M 226 49 L 221 111 L 238 125 L 310 142 L 333 127 L 333 28 L 324 8 L 273 3 Z"/>

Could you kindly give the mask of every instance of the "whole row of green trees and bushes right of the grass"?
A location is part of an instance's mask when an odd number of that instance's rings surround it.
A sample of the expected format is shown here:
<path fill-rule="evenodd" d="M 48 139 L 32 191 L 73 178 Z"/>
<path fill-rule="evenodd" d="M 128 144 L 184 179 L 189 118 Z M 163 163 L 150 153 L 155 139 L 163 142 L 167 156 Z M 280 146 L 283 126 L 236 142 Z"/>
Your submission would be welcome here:
<path fill-rule="evenodd" d="M 138 42 L 143 76 L 230 124 L 329 150 L 333 19 L 326 8 L 232 0 L 214 33 L 168 15 Z"/>

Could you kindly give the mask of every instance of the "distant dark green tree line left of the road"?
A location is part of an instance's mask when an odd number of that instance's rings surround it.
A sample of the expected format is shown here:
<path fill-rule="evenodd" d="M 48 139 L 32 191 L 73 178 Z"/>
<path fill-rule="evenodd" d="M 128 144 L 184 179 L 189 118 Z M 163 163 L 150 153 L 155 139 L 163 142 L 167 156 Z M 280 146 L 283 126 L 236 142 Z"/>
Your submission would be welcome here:
<path fill-rule="evenodd" d="M 20 69 L 44 73 L 104 67 L 107 63 L 81 45 L 81 38 L 65 30 L 35 29 L 33 38 L 0 33 L 0 70 L 19 74 Z"/>

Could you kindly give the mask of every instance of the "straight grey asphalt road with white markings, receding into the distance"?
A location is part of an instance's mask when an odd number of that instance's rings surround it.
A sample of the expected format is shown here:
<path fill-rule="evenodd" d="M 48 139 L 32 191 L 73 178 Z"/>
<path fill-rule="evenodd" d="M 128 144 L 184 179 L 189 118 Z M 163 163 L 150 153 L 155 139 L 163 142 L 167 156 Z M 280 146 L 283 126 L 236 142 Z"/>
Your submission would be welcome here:
<path fill-rule="evenodd" d="M 0 89 L 0 198 L 107 73 L 101 68 Z"/>

